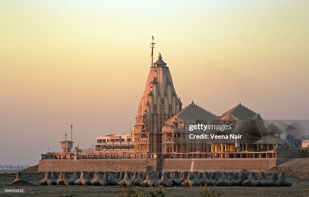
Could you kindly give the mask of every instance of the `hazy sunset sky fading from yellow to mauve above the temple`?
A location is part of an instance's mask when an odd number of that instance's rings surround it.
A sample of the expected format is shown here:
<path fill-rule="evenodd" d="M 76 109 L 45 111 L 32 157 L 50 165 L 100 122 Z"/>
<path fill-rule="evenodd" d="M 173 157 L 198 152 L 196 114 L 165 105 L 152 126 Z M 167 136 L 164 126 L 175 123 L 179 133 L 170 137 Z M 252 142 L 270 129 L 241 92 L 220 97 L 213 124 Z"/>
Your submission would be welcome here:
<path fill-rule="evenodd" d="M 309 119 L 309 1 L 0 0 L 0 165 L 129 133 L 161 52 L 184 107 Z M 184 95 L 184 96 L 183 96 Z M 186 98 L 184 98 L 186 97 Z"/>

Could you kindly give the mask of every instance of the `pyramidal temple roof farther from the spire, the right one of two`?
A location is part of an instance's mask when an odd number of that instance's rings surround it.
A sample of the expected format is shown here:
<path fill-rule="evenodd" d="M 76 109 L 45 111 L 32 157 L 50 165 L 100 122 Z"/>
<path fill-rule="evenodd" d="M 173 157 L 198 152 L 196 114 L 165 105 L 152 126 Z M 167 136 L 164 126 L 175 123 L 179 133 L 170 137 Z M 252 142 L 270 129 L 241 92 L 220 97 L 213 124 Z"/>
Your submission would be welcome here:
<path fill-rule="evenodd" d="M 252 111 L 248 107 L 243 106 L 241 103 L 230 109 L 229 111 L 225 112 L 219 119 L 222 120 L 252 120 L 260 117 L 260 114 Z"/>

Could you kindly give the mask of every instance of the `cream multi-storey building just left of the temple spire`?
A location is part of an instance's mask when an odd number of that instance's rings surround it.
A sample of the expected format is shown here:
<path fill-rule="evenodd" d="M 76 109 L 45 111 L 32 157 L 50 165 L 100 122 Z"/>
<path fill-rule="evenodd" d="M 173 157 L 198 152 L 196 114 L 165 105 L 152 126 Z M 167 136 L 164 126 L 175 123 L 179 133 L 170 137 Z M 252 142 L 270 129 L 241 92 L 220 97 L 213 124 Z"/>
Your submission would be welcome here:
<path fill-rule="evenodd" d="M 134 151 L 134 132 L 131 134 L 111 134 L 97 137 L 96 150 L 102 151 Z"/>

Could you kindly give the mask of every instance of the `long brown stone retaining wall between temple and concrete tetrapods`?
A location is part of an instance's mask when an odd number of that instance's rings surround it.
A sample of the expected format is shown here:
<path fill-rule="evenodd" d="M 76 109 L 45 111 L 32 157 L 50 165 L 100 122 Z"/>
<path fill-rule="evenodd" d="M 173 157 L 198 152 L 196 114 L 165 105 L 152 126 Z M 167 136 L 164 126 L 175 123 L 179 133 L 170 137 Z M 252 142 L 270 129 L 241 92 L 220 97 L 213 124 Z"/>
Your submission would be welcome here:
<path fill-rule="evenodd" d="M 45 171 L 265 171 L 276 166 L 276 158 L 236 159 L 43 159 Z"/>

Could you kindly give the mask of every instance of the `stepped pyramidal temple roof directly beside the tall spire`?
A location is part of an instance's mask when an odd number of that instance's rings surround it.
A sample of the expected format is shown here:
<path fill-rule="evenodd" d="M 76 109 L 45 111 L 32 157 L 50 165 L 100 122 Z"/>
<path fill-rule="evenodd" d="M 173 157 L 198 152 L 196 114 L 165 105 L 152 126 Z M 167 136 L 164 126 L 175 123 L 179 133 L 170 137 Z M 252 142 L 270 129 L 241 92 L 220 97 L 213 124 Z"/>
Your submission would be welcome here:
<path fill-rule="evenodd" d="M 214 115 L 213 113 L 194 104 L 193 101 L 190 105 L 182 109 L 180 112 L 171 117 L 169 120 L 176 117 L 183 120 L 214 120 L 218 118 L 218 116 Z"/>

